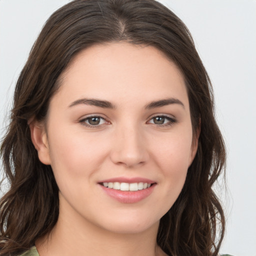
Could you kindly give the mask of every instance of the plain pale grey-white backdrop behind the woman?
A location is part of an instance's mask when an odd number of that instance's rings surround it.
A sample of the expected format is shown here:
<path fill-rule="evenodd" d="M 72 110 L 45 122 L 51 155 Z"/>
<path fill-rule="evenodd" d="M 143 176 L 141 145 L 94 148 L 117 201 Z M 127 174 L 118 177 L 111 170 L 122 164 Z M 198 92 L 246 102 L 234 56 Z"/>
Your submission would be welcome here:
<path fill-rule="evenodd" d="M 221 252 L 256 255 L 256 1 L 160 0 L 189 28 L 211 78 L 226 141 Z M 0 0 L 0 137 L 17 76 L 48 16 L 68 0 Z M 5 118 L 5 119 L 4 119 Z"/>

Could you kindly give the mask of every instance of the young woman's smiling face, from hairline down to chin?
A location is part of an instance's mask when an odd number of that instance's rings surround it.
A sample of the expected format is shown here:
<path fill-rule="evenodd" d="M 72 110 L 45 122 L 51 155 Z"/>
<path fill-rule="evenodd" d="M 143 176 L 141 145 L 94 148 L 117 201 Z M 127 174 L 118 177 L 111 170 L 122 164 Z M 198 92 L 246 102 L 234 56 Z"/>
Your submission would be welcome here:
<path fill-rule="evenodd" d="M 60 219 L 120 233 L 157 227 L 196 151 L 184 79 L 151 46 L 87 48 L 62 75 L 42 141 Z"/>

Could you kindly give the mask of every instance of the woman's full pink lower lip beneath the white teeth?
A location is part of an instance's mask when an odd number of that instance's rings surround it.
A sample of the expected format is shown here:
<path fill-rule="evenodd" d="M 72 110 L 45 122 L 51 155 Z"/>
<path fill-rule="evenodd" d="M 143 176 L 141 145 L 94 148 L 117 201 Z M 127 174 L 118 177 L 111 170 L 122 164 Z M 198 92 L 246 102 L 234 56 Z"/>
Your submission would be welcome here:
<path fill-rule="evenodd" d="M 137 190 L 137 191 L 122 191 L 118 189 L 108 188 L 102 185 L 100 186 L 106 192 L 107 195 L 116 199 L 117 201 L 123 202 L 123 203 L 134 203 L 134 202 L 139 202 L 144 198 L 146 198 L 147 196 L 149 196 L 152 193 L 155 185 L 156 183 L 152 184 L 148 188 Z"/>

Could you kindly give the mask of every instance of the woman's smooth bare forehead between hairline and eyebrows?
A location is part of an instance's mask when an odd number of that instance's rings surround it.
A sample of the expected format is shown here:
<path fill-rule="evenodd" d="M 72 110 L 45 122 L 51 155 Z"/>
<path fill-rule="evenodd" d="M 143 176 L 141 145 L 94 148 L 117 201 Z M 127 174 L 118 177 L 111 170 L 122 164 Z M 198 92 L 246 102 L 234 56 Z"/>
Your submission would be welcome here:
<path fill-rule="evenodd" d="M 141 100 L 163 98 L 166 93 L 187 97 L 180 70 L 161 51 L 126 42 L 93 45 L 79 52 L 61 75 L 61 90 L 73 100 L 79 96 Z"/>

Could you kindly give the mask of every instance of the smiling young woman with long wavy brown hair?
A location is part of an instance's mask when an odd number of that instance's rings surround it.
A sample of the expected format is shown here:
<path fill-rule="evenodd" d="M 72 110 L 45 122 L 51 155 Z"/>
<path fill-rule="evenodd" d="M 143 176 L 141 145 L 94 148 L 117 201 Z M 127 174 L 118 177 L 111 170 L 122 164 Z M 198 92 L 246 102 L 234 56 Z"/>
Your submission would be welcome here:
<path fill-rule="evenodd" d="M 189 31 L 156 1 L 54 12 L 1 154 L 0 255 L 218 254 L 211 187 L 225 149 L 211 85 Z"/>

